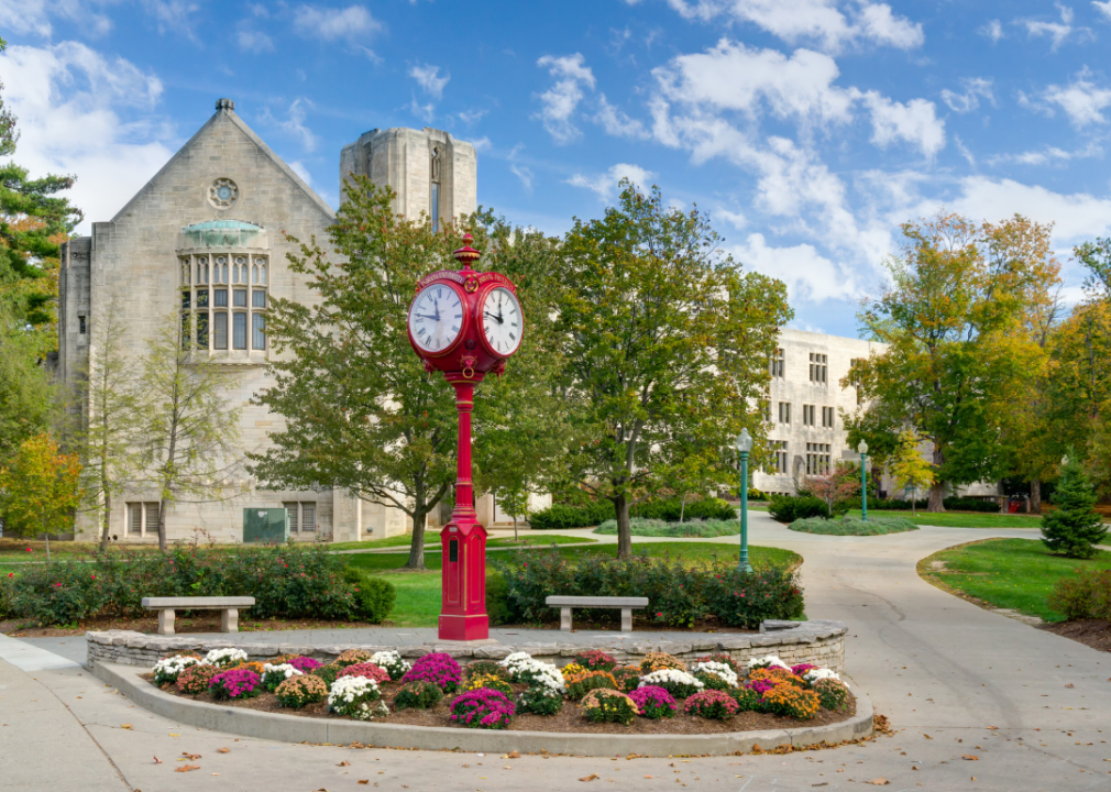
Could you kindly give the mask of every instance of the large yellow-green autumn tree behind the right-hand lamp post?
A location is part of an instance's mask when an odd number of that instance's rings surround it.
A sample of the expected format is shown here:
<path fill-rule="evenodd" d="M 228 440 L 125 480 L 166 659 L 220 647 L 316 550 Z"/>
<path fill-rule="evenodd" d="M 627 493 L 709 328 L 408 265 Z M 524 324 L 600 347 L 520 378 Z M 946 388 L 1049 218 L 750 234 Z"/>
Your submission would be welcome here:
<path fill-rule="evenodd" d="M 1048 231 L 1019 215 L 975 225 L 939 214 L 902 230 L 891 285 L 860 314 L 888 348 L 854 363 L 842 385 L 857 384 L 888 433 L 911 427 L 932 444 L 935 512 L 948 484 L 995 478 L 1010 459 L 1002 410 L 1033 354 L 1023 329 L 1055 290 L 1059 264 L 1025 243 Z"/>

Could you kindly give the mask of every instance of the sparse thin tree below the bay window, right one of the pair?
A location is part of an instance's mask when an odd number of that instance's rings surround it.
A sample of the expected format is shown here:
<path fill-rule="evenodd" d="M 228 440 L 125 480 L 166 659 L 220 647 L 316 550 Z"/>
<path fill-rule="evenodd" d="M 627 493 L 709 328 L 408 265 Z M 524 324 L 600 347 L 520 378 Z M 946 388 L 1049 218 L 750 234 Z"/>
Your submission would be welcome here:
<path fill-rule="evenodd" d="M 220 500 L 237 488 L 239 415 L 228 393 L 234 374 L 196 353 L 191 321 L 170 314 L 140 365 L 138 448 L 144 477 L 159 489 L 158 547 L 167 550 L 166 513 L 179 500 Z"/>

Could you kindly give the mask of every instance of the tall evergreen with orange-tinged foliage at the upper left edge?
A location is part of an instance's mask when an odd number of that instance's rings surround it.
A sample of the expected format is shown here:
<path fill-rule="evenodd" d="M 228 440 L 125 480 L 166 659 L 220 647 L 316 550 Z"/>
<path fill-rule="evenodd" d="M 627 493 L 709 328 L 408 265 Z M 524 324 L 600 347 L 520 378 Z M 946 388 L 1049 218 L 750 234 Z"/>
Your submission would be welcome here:
<path fill-rule="evenodd" d="M 0 39 L 0 52 L 7 46 Z M 0 99 L 0 157 L 14 153 L 18 140 L 16 117 Z M 72 186 L 72 177 L 29 179 L 26 168 L 0 164 L 0 301 L 20 320 L 42 328 L 43 339 L 53 344 L 59 245 L 82 218 L 57 193 Z"/>

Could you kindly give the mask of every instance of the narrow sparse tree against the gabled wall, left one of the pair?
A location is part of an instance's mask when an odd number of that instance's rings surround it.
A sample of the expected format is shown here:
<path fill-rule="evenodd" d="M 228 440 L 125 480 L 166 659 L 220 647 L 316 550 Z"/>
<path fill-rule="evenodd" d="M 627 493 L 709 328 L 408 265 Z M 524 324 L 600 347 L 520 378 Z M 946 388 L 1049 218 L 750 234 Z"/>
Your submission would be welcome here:
<path fill-rule="evenodd" d="M 90 328 L 89 357 L 78 377 L 74 433 L 82 468 L 86 511 L 101 520 L 100 549 L 108 548 L 112 497 L 142 469 L 137 428 L 142 411 L 138 365 L 124 343 L 123 312 L 113 301 Z"/>

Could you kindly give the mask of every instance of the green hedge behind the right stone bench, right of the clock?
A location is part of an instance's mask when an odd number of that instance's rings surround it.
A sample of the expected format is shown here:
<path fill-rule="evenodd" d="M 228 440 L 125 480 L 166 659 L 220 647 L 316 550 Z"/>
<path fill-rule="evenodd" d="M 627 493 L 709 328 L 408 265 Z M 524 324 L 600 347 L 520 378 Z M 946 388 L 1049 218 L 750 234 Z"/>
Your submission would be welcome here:
<path fill-rule="evenodd" d="M 499 553 L 491 563 L 499 580 L 490 585 L 488 578 L 487 609 L 497 611 L 502 623 L 554 621 L 557 609 L 546 604 L 553 594 L 647 596 L 643 613 L 661 626 L 692 626 L 714 616 L 725 626 L 754 629 L 765 619 L 797 619 L 803 613 L 802 589 L 787 564 L 743 572 L 735 561 L 685 564 L 681 558 L 594 553 L 569 559 L 558 550 Z M 583 610 L 585 618 L 613 618 L 613 611 Z"/>

